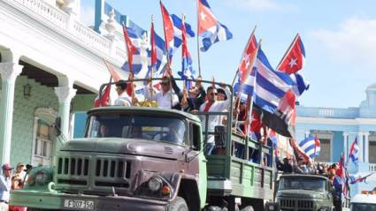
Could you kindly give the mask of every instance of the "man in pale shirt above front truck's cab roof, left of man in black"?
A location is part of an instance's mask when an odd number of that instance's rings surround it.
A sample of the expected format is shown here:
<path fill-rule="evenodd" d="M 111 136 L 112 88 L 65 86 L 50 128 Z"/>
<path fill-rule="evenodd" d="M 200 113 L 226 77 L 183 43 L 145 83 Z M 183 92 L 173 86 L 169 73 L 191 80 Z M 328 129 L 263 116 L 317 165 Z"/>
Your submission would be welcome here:
<path fill-rule="evenodd" d="M 173 106 L 179 103 L 179 98 L 171 90 L 170 84 L 170 78 L 165 76 L 161 81 L 160 92 L 153 93 L 154 90 L 150 90 L 150 88 L 145 87 L 145 90 L 149 90 L 145 93 L 145 98 L 150 101 L 156 101 L 157 107 L 160 109 L 172 109 Z M 171 97 L 173 97 L 173 101 L 171 100 Z"/>

